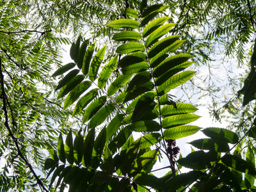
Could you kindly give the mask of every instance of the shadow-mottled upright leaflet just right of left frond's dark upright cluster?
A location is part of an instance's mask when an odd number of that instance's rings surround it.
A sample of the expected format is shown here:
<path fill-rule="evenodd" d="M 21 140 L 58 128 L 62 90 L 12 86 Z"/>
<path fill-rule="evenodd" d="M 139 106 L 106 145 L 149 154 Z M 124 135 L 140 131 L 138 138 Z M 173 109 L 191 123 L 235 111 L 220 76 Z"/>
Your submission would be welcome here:
<path fill-rule="evenodd" d="M 92 63 L 89 68 L 89 79 L 94 81 L 97 78 L 97 73 L 100 67 L 100 63 L 103 60 L 104 54 L 106 51 L 106 45 L 102 47 L 94 56 Z"/>

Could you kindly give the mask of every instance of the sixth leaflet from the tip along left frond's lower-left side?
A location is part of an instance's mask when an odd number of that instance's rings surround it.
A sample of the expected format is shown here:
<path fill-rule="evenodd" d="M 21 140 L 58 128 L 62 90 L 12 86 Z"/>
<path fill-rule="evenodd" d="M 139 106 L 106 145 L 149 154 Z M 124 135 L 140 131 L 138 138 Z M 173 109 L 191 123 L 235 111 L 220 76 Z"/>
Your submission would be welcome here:
<path fill-rule="evenodd" d="M 95 115 L 95 113 L 97 113 L 97 111 L 99 111 L 99 109 L 102 108 L 102 106 L 104 106 L 106 100 L 107 100 L 107 97 L 102 96 L 102 97 L 99 97 L 98 99 L 96 99 L 95 101 L 93 101 L 90 104 L 90 106 L 88 106 L 86 108 L 86 110 L 84 111 L 83 123 L 90 120 L 90 118 L 92 118 L 93 115 Z"/>

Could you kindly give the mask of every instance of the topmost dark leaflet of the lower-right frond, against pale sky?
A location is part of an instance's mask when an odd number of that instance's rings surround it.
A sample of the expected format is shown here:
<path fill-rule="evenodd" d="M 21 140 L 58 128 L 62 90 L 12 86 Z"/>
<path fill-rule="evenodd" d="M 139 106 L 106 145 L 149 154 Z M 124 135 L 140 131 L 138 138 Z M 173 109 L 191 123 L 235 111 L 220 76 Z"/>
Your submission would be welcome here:
<path fill-rule="evenodd" d="M 206 136 L 215 140 L 221 140 L 232 144 L 236 144 L 238 142 L 237 134 L 227 129 L 210 127 L 202 130 L 202 132 L 204 132 Z"/>

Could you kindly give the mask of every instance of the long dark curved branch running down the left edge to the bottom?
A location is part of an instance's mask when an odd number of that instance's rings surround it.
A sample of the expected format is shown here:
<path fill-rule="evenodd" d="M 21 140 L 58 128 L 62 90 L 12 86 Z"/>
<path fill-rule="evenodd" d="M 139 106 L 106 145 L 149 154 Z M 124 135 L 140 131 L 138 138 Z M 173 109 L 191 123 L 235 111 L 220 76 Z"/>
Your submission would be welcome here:
<path fill-rule="evenodd" d="M 7 112 L 7 109 L 6 109 L 6 98 L 7 98 L 7 95 L 4 91 L 4 76 L 3 76 L 3 72 L 2 72 L 2 60 L 1 60 L 1 57 L 0 57 L 0 79 L 1 79 L 1 90 L 2 90 L 2 96 L 3 96 L 3 111 L 4 111 L 4 118 L 5 118 L 5 122 L 4 122 L 4 125 L 6 127 L 6 129 L 8 130 L 9 132 L 9 136 L 12 138 L 13 142 L 15 143 L 15 146 L 17 148 L 17 151 L 18 151 L 18 156 L 20 156 L 20 158 L 24 161 L 24 163 L 26 163 L 26 165 L 28 166 L 29 170 L 33 173 L 38 185 L 44 189 L 44 191 L 48 191 L 44 184 L 42 183 L 42 180 L 39 179 L 39 177 L 36 175 L 35 171 L 33 170 L 31 164 L 28 162 L 28 160 L 26 159 L 26 157 L 24 157 L 24 155 L 22 154 L 21 150 L 20 150 L 20 147 L 19 147 L 19 144 L 18 144 L 18 141 L 17 141 L 17 138 L 15 138 L 15 136 L 13 135 L 13 132 L 8 124 L 8 112 Z"/>

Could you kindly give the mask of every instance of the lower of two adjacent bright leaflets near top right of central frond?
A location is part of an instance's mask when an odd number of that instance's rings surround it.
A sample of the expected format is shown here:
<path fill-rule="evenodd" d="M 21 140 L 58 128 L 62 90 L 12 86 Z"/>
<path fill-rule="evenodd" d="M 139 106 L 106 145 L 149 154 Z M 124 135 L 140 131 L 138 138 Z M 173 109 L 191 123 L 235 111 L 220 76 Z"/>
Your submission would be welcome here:
<path fill-rule="evenodd" d="M 145 47 L 150 47 L 150 45 L 154 44 L 154 42 L 159 39 L 161 36 L 165 35 L 170 31 L 170 29 L 175 26 L 176 24 L 169 23 L 161 26 L 160 28 L 156 29 L 153 33 L 151 33 L 146 42 Z"/>

